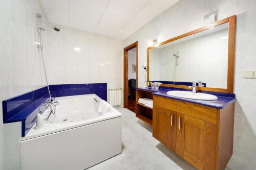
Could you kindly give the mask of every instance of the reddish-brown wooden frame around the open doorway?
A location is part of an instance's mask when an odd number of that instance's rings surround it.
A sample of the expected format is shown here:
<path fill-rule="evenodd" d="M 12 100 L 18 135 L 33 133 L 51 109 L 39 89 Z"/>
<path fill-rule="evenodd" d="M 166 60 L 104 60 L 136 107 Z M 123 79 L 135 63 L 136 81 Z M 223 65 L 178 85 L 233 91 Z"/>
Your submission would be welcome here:
<path fill-rule="evenodd" d="M 138 87 L 138 41 L 123 48 L 123 107 L 128 105 L 128 51 L 136 47 L 136 87 Z"/>

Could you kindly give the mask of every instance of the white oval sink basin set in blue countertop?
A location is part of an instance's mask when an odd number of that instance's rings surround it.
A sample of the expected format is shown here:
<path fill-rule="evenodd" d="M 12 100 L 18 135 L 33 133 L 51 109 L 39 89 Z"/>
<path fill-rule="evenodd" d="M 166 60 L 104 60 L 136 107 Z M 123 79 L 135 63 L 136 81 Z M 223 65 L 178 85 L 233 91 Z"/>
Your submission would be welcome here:
<path fill-rule="evenodd" d="M 217 100 L 218 97 L 211 94 L 206 93 L 193 93 L 191 91 L 168 91 L 168 95 L 172 95 L 179 98 L 186 98 L 186 99 L 196 99 L 196 100 L 206 100 L 206 101 L 212 101 Z"/>

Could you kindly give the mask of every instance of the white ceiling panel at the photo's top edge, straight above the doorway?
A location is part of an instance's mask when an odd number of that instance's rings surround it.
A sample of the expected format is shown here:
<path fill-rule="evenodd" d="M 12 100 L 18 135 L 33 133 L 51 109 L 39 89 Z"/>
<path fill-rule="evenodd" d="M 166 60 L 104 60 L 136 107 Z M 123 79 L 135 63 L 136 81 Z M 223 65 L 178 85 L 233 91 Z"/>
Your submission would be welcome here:
<path fill-rule="evenodd" d="M 149 0 L 111 0 L 107 9 L 132 19 L 149 2 Z"/>

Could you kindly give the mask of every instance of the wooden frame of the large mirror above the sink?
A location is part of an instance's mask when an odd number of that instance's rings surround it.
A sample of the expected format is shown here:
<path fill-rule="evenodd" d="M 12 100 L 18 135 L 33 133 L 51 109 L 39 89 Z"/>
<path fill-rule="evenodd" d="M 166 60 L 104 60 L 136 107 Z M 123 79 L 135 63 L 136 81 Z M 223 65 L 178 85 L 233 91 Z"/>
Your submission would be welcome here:
<path fill-rule="evenodd" d="M 212 27 L 222 25 L 223 23 L 228 23 L 228 65 L 227 65 L 227 88 L 211 88 L 211 87 L 197 87 L 198 90 L 203 91 L 215 91 L 215 92 L 226 92 L 233 93 L 233 81 L 234 81 L 234 43 L 235 43 L 235 34 L 236 34 L 236 15 L 232 15 L 228 18 L 216 21 L 211 23 L 209 26 L 201 27 L 199 29 L 190 31 L 188 33 L 179 35 L 177 37 L 168 39 L 166 41 L 160 42 L 156 45 L 150 46 L 147 48 L 147 81 L 150 81 L 150 49 L 155 48 L 159 45 L 163 45 L 184 37 L 187 37 L 192 34 L 199 33 L 201 31 L 207 30 Z M 174 88 L 183 88 L 189 89 L 189 86 L 185 85 L 173 85 L 173 84 L 161 84 L 164 87 L 174 87 Z"/>

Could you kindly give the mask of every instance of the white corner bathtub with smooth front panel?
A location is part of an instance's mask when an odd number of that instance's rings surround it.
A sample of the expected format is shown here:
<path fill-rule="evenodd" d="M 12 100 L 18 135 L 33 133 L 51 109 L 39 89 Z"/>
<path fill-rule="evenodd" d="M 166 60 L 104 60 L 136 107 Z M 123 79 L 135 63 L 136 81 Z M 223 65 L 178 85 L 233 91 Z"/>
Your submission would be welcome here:
<path fill-rule="evenodd" d="M 122 151 L 121 113 L 98 112 L 95 94 L 56 98 L 55 114 L 42 113 L 45 127 L 19 139 L 20 166 L 30 169 L 86 169 Z M 96 102 L 97 101 L 97 102 Z M 50 114 L 50 116 L 49 116 Z"/>

